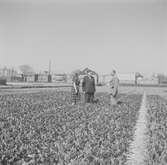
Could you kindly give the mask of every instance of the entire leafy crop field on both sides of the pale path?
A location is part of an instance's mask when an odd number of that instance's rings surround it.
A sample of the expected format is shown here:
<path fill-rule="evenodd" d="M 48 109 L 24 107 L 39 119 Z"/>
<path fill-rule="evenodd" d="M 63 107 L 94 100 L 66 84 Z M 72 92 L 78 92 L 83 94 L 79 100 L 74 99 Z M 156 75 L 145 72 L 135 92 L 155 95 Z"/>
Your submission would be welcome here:
<path fill-rule="evenodd" d="M 147 138 L 143 165 L 167 164 L 162 97 L 147 95 L 146 111 L 142 92 L 119 94 L 112 107 L 106 92 L 97 92 L 94 104 L 71 105 L 67 90 L 22 91 L 0 94 L 0 164 L 130 165 L 129 159 L 139 159 L 131 156 L 131 144 L 143 144 L 136 136 Z M 146 134 L 137 135 L 143 124 Z"/>

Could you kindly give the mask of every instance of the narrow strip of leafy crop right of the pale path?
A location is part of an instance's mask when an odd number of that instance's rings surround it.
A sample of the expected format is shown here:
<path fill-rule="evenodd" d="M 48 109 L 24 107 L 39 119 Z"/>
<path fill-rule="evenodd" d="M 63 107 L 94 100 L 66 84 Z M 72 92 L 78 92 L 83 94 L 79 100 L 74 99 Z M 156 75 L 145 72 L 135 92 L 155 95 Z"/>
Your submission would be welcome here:
<path fill-rule="evenodd" d="M 147 165 L 167 164 L 167 102 L 160 96 L 149 96 Z"/>

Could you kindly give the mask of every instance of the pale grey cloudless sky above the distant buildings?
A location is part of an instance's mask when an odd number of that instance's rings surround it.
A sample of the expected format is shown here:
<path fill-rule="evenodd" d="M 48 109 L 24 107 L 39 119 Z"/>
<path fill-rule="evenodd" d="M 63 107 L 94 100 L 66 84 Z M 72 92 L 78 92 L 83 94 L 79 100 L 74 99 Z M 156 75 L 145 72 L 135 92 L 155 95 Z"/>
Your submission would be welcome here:
<path fill-rule="evenodd" d="M 0 67 L 167 73 L 166 0 L 1 0 Z"/>

